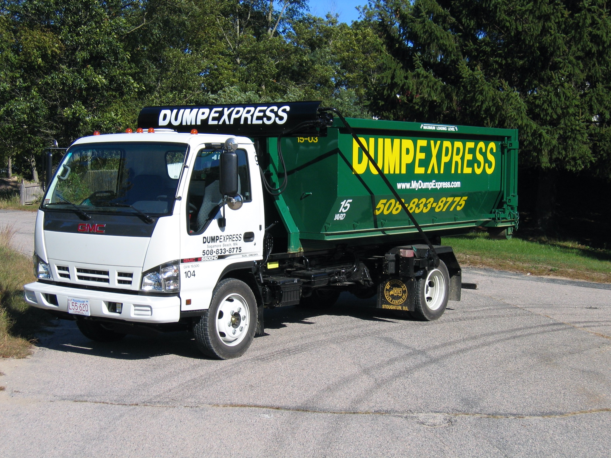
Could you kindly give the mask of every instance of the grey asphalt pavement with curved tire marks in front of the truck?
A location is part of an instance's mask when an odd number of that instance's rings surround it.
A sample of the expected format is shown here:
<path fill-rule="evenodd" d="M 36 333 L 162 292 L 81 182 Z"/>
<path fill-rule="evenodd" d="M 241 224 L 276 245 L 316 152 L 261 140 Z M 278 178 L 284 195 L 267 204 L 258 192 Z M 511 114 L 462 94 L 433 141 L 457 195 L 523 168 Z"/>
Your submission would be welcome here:
<path fill-rule="evenodd" d="M 434 322 L 349 294 L 266 310 L 229 361 L 188 333 L 101 344 L 56 321 L 0 361 L 0 456 L 608 457 L 610 286 L 463 281 Z"/>

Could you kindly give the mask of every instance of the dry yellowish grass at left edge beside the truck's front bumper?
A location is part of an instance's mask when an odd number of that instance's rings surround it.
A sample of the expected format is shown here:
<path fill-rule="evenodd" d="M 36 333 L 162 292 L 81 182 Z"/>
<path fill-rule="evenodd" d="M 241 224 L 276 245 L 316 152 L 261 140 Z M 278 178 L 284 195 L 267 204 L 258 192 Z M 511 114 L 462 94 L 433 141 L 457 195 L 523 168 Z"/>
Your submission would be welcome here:
<path fill-rule="evenodd" d="M 9 248 L 10 231 L 0 231 L 0 357 L 23 358 L 32 352 L 35 333 L 49 323 L 45 311 L 29 307 L 23 285 L 35 280 L 32 260 Z"/>

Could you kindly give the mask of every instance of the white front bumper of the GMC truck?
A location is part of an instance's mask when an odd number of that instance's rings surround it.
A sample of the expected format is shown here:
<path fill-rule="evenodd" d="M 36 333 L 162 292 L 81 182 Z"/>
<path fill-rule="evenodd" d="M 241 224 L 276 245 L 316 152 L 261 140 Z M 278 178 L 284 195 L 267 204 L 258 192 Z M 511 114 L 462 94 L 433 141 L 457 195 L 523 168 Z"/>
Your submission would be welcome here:
<path fill-rule="evenodd" d="M 89 299 L 91 316 L 139 323 L 174 323 L 180 319 L 180 297 L 138 296 L 92 289 L 68 288 L 47 283 L 28 283 L 23 287 L 27 304 L 45 310 L 68 311 L 68 297 Z M 47 295 L 51 295 L 50 297 Z M 57 305 L 48 299 L 57 297 Z M 108 311 L 108 302 L 123 304 L 121 313 Z M 79 316 L 79 315 L 75 315 Z"/>

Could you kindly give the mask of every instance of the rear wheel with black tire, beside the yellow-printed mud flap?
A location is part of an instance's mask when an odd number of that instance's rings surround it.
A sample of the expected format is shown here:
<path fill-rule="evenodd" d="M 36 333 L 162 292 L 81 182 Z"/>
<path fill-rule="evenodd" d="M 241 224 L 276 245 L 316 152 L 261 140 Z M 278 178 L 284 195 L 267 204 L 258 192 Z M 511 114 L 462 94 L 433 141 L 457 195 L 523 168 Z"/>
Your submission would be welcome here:
<path fill-rule="evenodd" d="M 450 275 L 444 261 L 439 267 L 429 269 L 416 280 L 414 315 L 423 321 L 433 321 L 442 316 L 448 305 Z"/>

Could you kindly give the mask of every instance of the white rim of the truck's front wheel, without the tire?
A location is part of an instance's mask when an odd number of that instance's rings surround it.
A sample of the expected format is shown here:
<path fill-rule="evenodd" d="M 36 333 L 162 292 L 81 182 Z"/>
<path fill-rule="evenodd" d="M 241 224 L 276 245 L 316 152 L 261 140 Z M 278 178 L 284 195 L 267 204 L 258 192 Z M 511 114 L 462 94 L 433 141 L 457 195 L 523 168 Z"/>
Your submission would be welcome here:
<path fill-rule="evenodd" d="M 251 313 L 246 299 L 240 294 L 228 294 L 216 312 L 216 334 L 219 339 L 229 347 L 236 346 L 247 336 L 250 323 Z"/>

